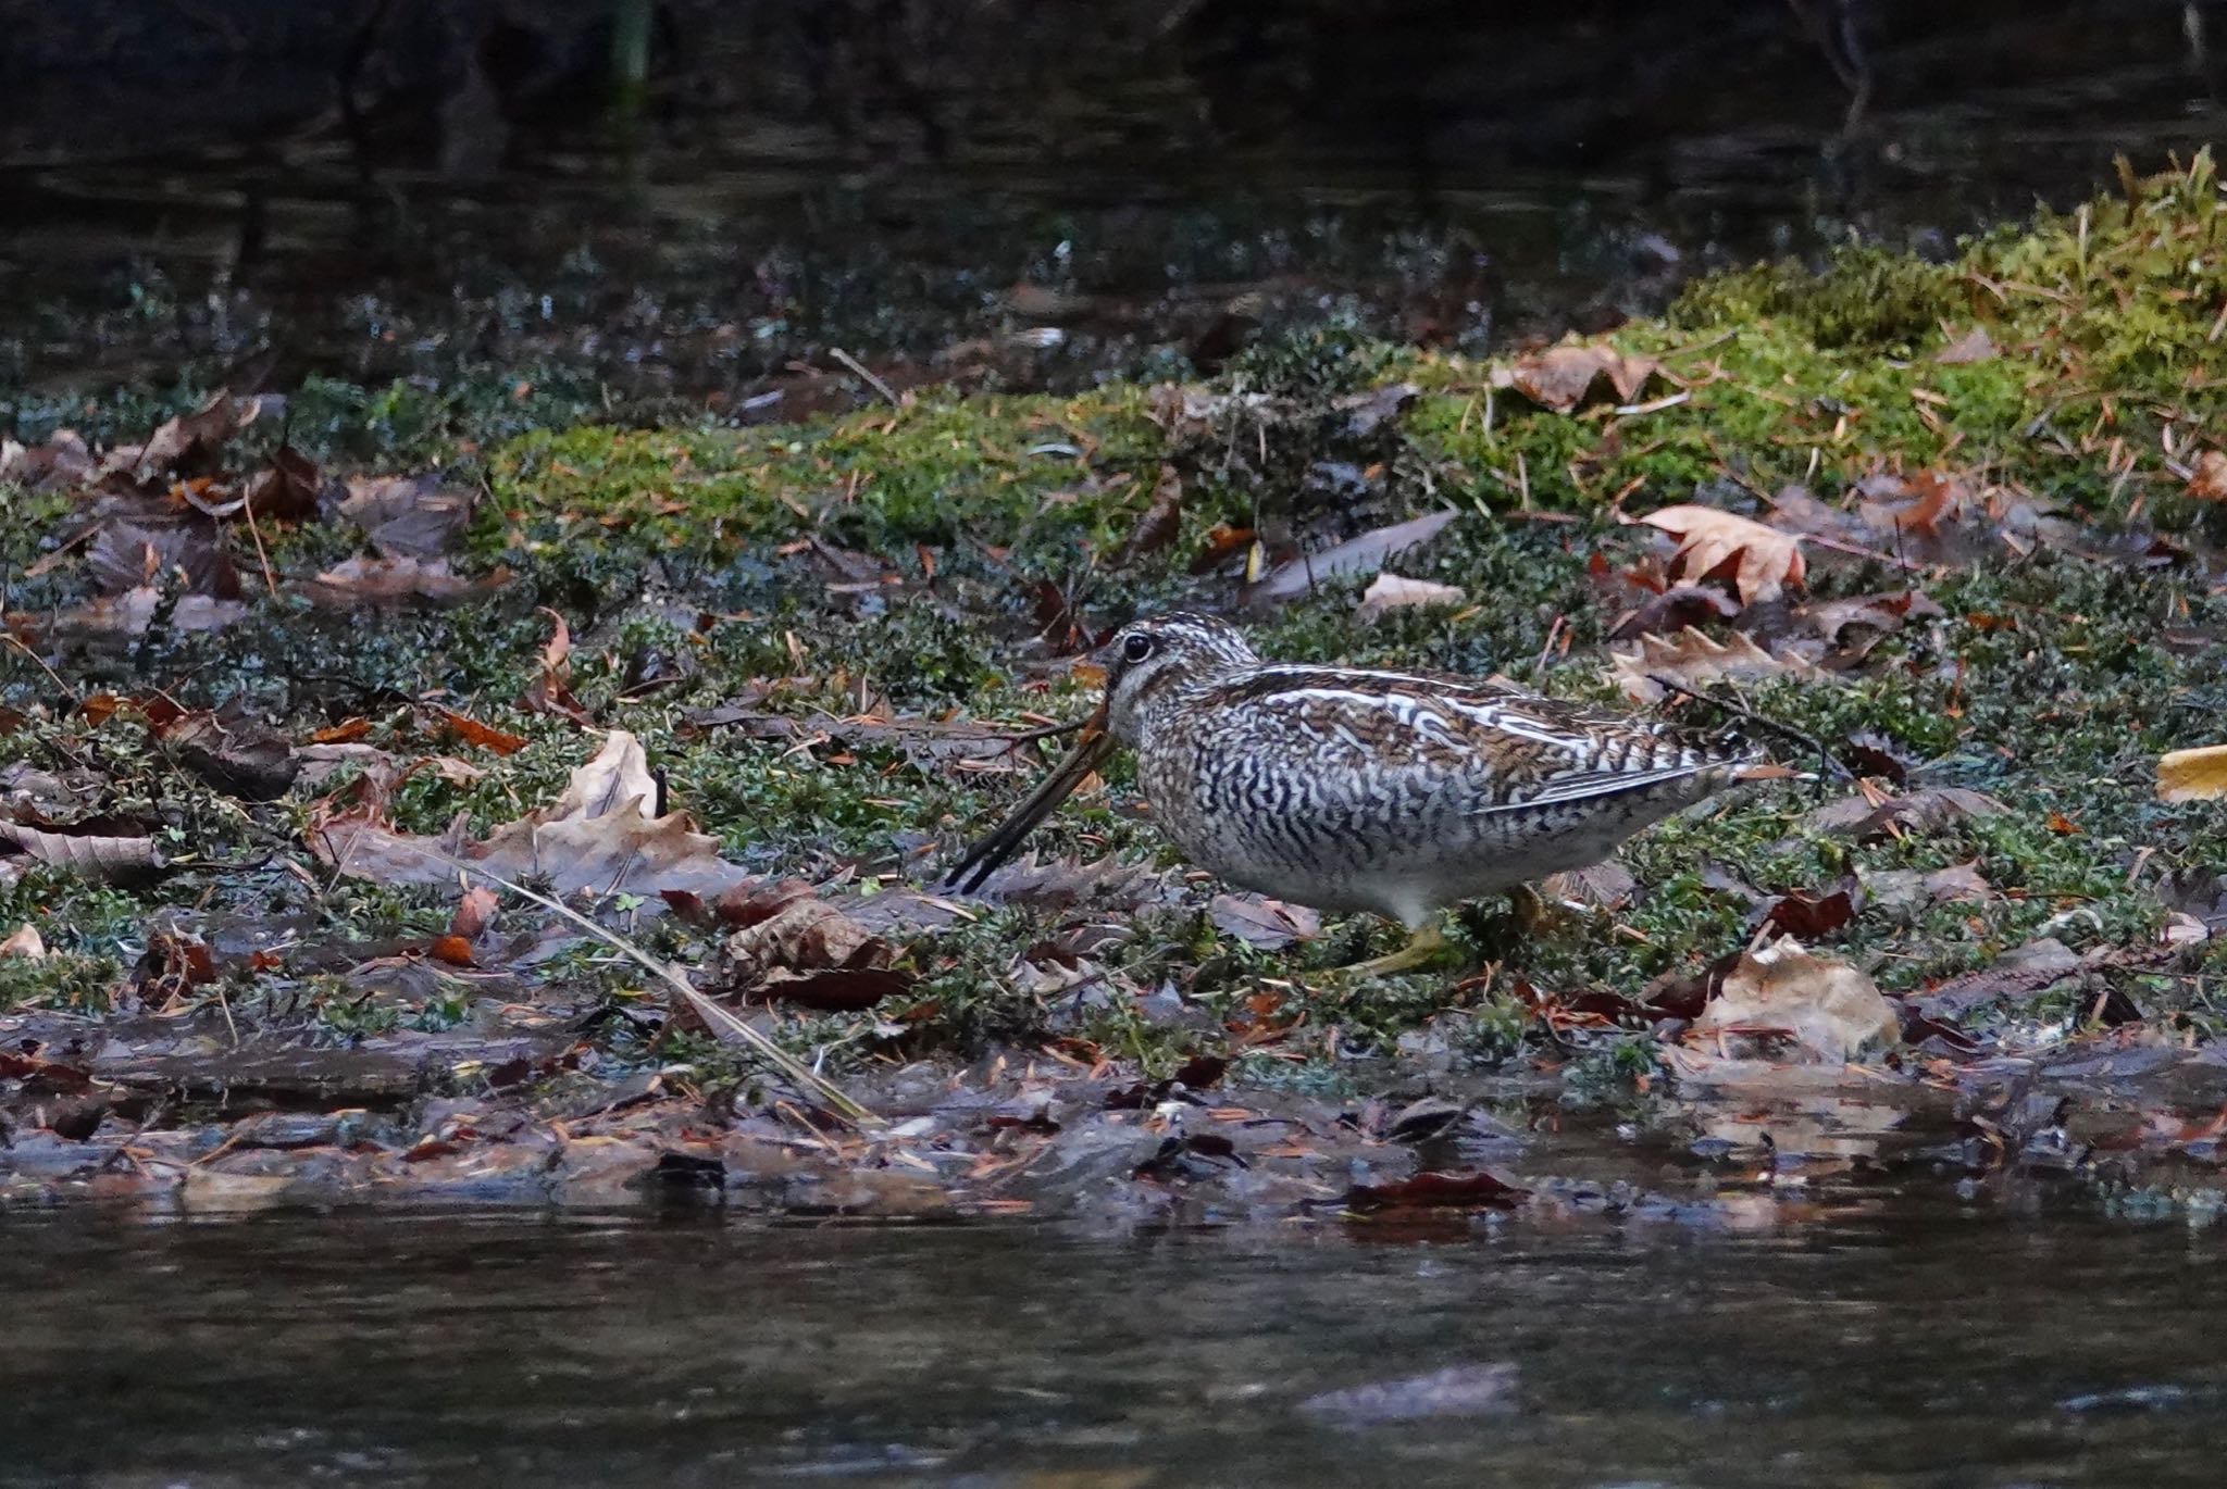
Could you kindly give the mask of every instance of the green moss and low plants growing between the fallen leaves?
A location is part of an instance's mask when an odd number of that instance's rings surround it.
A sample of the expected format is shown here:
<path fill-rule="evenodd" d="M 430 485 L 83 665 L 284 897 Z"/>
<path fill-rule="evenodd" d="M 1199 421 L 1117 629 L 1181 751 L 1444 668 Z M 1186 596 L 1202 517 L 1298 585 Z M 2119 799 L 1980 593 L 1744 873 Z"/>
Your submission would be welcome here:
<path fill-rule="evenodd" d="M 183 703 L 243 697 L 296 734 L 370 717 L 370 743 L 405 757 L 457 752 L 483 770 L 461 781 L 412 775 L 387 801 L 399 826 L 436 832 L 463 812 L 472 832 L 488 832 L 550 801 L 595 748 L 575 723 L 519 703 L 550 634 L 541 608 L 552 608 L 575 634 L 579 701 L 599 726 L 641 737 L 673 801 L 733 857 L 762 872 L 902 881 L 929 861 L 926 848 L 995 819 L 1022 781 L 951 770 L 893 743 L 746 739 L 699 728 L 693 714 L 746 694 L 753 708 L 799 721 L 882 703 L 909 717 L 1073 717 L 1087 708 L 1087 688 L 1036 641 L 1044 585 L 1065 594 L 1078 614 L 1062 619 L 1080 628 L 1178 601 L 1229 603 L 1227 574 L 1191 572 L 1216 523 L 1260 516 L 1327 541 L 1441 505 L 1454 505 L 1459 521 L 1394 568 L 1461 585 L 1470 605 L 1356 625 L 1363 581 L 1347 579 L 1254 617 L 1260 650 L 1505 672 L 1606 701 L 1612 688 L 1599 643 L 1612 617 L 1588 570 L 1595 559 L 1628 563 L 1637 541 L 1610 503 L 1644 512 L 1699 494 L 1753 505 L 1788 483 L 1837 501 L 1880 467 L 1946 465 L 2113 521 L 2136 503 L 2198 534 L 2227 521 L 2180 499 L 2185 476 L 2169 465 L 2185 465 L 2227 416 L 2227 338 L 2211 329 L 2223 305 L 2216 183 L 2209 160 L 2198 160 L 2131 200 L 1975 238 L 1949 263 L 1851 249 L 1822 274 L 1773 265 L 1704 280 L 1672 316 L 1610 338 L 1666 372 L 1639 396 L 1655 407 L 1630 414 L 1599 403 L 1574 414 L 1537 410 L 1494 389 L 1488 367 L 1341 329 L 1278 338 L 1232 365 L 1218 392 L 1265 392 L 1267 414 L 1232 401 L 1223 407 L 1236 412 L 1211 414 L 1205 430 L 1169 418 L 1176 434 L 1156 423 L 1149 389 L 1127 383 L 1073 398 L 931 389 L 895 410 L 753 430 L 570 425 L 581 389 L 563 378 L 448 401 L 410 387 L 314 383 L 296 398 L 298 438 L 339 458 L 439 454 L 457 461 L 457 479 L 485 479 L 492 499 L 461 563 L 506 565 L 510 583 L 472 605 L 374 623 L 272 603 L 256 625 L 160 634 L 122 659 L 82 663 L 73 681 L 163 688 Z M 1975 325 L 1995 347 L 1991 358 L 1935 361 Z M 1390 378 L 1423 394 L 1399 418 L 1354 434 L 1336 401 Z M 140 416 L 134 405 L 109 423 Z M 1185 485 L 1176 539 L 1114 568 L 1162 461 Z M 1307 472 L 1332 461 L 1363 472 L 1358 494 L 1347 507 L 1309 507 Z M 0 563 L 20 574 L 40 556 L 33 534 L 65 516 L 65 501 L 22 492 L 4 501 Z M 278 534 L 274 554 L 301 572 L 350 543 L 307 530 Z M 73 583 L 82 581 L 62 568 L 13 590 L 11 603 L 60 603 Z M 1909 583 L 1900 568 L 1877 563 L 1815 576 L 1819 594 L 1900 583 Z M 1265 986 L 1303 984 L 1289 999 L 1305 1019 L 1278 1051 L 1303 1059 L 1249 1057 L 1247 1071 L 1336 1084 L 1345 1079 L 1338 1057 L 1399 1048 L 1445 1013 L 1456 975 L 1485 959 L 1505 959 L 1550 993 L 1635 993 L 1746 941 L 1748 897 L 1710 888 L 1726 877 L 1775 895 L 1964 861 L 2000 893 L 1975 904 L 1866 908 L 1833 933 L 1833 955 L 1873 968 L 1882 986 L 1913 990 L 2042 933 L 2076 948 L 2147 944 L 2162 908 L 2131 872 L 2138 861 L 2145 875 L 2227 868 L 2216 808 L 2165 806 L 2151 788 L 2158 752 L 2218 743 L 2227 681 L 2216 650 L 2167 645 L 2165 632 L 2227 630 L 2227 596 L 2194 572 L 2093 563 L 2047 543 L 1924 583 L 1942 619 L 1882 641 L 1860 674 L 1759 688 L 1753 703 L 1824 739 L 1886 734 L 1922 761 L 1924 783 L 1993 792 L 2009 808 L 2000 815 L 1848 841 L 1808 821 L 1824 788 L 1744 790 L 1628 848 L 1639 879 L 1630 908 L 1517 937 L 1494 906 L 1477 906 L 1463 915 L 1461 950 L 1448 966 L 1358 988 L 1318 973 L 1387 950 L 1396 933 L 1379 921 L 1332 919 L 1309 946 L 1258 953 L 1216 937 L 1191 906 L 1140 915 L 1138 935 L 1100 957 L 1096 995 L 1038 995 L 1013 964 L 1053 928 L 1049 913 L 993 910 L 902 944 L 902 964 L 918 973 L 904 1008 L 784 1015 L 777 1033 L 822 1051 L 831 1068 L 1076 1037 L 1165 1073 L 1196 1048 L 1240 1051 L 1216 1024 L 1247 1024 Z M 646 654 L 666 659 L 677 681 L 635 688 Z M 0 657 L 0 668 L 7 701 L 56 706 L 51 683 L 22 657 Z M 526 746 L 497 757 L 452 741 L 414 699 L 457 708 Z M 47 768 L 65 750 L 111 783 L 102 810 L 151 815 L 178 852 L 238 861 L 301 841 L 307 803 L 223 799 L 125 714 L 100 728 L 60 714 L 49 723 L 0 737 L 0 759 Z M 336 786 L 345 777 L 327 790 Z M 1036 850 L 1171 866 L 1151 826 L 1118 810 L 1129 786 L 1127 766 L 1114 766 L 1109 790 L 1062 810 Z M 450 906 L 439 893 L 312 877 L 314 893 L 276 875 L 223 872 L 118 893 L 31 872 L 0 897 L 0 917 L 45 917 L 65 955 L 7 968 L 0 1004 L 98 999 L 160 904 L 310 908 L 347 944 L 445 926 Z M 710 955 L 710 937 L 679 921 L 646 935 L 659 955 Z M 2205 966 L 2223 964 L 2227 955 L 2214 948 Z M 626 973 L 592 953 L 541 973 L 610 997 L 628 990 Z M 1169 982 L 1207 1028 L 1158 1022 L 1129 990 Z M 2145 997 L 2200 1013 L 2189 986 L 2162 979 Z M 1497 988 L 1461 993 L 1470 1004 L 1456 1019 L 1470 1031 L 1463 1048 L 1479 1059 L 1537 1037 Z M 459 999 L 359 1002 L 336 984 L 310 1006 L 334 1037 L 468 1015 Z M 704 1079 L 735 1075 L 733 1055 L 686 1039 L 650 1051 L 624 1019 L 599 1037 L 612 1059 L 684 1059 Z M 1572 1068 L 1581 1084 L 1628 1093 L 1646 1064 L 1644 1039 L 1615 1035 L 1581 1051 Z"/>

